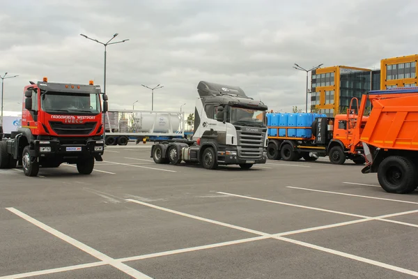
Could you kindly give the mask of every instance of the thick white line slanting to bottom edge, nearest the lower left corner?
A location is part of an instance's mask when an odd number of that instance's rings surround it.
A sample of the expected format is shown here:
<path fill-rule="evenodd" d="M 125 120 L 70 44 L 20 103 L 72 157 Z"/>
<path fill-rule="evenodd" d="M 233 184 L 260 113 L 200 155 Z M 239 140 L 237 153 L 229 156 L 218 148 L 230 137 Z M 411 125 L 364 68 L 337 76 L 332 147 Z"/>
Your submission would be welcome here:
<path fill-rule="evenodd" d="M 109 264 L 111 266 L 114 266 L 116 269 L 119 269 L 120 271 L 123 271 L 124 273 L 127 273 L 128 275 L 132 276 L 133 278 L 150 278 L 149 276 L 146 276 L 144 273 L 141 273 L 137 271 L 136 269 L 133 269 L 130 266 L 127 266 L 126 264 L 123 264 L 122 262 L 116 261 L 114 258 L 109 257 L 108 255 L 103 254 L 102 252 L 99 252 L 98 250 L 95 250 L 94 248 L 91 248 L 90 246 L 87 246 L 86 244 L 77 241 L 76 239 L 73 239 L 72 237 L 63 234 L 62 232 L 57 231 L 56 229 L 49 227 L 48 225 L 45 225 L 44 223 L 36 220 L 35 218 L 32 218 L 31 216 L 23 213 L 22 211 L 19 211 L 13 207 L 7 207 L 8 211 L 15 213 L 20 218 L 28 221 L 29 223 L 32 223 L 33 225 L 36 225 L 36 227 L 39 227 L 40 229 L 45 230 L 45 232 L 49 232 L 49 234 L 52 234 L 59 239 L 71 244 L 72 246 L 75 246 L 79 248 L 80 250 L 88 253 L 89 255 L 92 255 L 93 257 L 96 257 L 97 259 L 100 259 L 102 262 Z"/>

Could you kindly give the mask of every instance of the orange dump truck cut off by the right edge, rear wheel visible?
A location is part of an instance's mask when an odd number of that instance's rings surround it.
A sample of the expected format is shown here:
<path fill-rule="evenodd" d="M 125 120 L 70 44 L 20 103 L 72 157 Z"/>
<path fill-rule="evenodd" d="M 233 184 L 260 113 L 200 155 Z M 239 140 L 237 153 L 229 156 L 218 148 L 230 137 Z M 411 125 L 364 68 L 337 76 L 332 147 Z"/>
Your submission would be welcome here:
<path fill-rule="evenodd" d="M 355 123 L 352 149 L 362 143 L 366 166 L 378 174 L 388 193 L 411 193 L 418 186 L 418 88 L 369 91 L 362 98 L 359 119 L 371 100 L 372 110 L 362 129 Z"/>

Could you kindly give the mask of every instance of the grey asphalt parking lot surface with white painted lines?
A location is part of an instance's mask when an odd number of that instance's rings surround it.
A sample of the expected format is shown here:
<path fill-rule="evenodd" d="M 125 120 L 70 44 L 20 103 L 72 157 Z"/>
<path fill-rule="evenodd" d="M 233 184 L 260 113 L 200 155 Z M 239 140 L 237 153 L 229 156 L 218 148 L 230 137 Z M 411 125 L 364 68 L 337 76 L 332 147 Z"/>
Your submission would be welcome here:
<path fill-rule="evenodd" d="M 150 144 L 0 169 L 0 279 L 417 278 L 417 193 L 347 160 L 157 165 Z"/>

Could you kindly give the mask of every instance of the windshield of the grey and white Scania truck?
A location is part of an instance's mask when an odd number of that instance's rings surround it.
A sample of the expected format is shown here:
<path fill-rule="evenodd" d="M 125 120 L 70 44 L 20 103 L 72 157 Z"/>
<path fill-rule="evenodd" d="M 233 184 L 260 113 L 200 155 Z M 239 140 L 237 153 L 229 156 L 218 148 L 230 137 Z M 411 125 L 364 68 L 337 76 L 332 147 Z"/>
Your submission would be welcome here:
<path fill-rule="evenodd" d="M 242 126 L 265 126 L 265 111 L 231 107 L 231 124 Z"/>

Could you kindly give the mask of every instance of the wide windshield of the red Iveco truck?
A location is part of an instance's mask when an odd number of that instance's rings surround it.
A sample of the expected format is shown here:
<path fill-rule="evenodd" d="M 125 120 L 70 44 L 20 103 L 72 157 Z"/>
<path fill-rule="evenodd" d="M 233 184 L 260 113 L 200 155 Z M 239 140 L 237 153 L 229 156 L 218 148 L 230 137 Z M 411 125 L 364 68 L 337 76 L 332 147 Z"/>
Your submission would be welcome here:
<path fill-rule="evenodd" d="M 50 92 L 41 97 L 42 110 L 45 112 L 91 113 L 100 112 L 98 94 Z"/>

